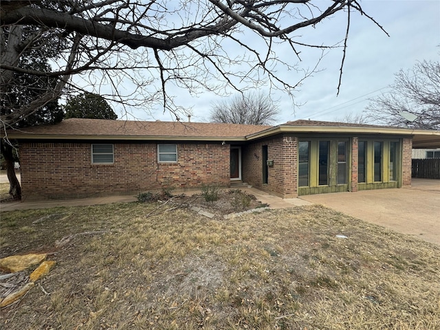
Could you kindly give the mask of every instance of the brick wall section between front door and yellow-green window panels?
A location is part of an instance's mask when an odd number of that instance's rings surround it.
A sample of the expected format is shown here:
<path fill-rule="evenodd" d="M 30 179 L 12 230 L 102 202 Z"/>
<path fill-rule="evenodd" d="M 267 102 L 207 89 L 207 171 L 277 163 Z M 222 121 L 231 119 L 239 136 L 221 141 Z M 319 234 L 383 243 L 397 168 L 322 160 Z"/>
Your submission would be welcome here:
<path fill-rule="evenodd" d="M 264 145 L 267 145 L 267 158 L 274 161 L 274 166 L 268 167 L 267 184 L 263 184 Z M 282 136 L 243 147 L 243 181 L 281 197 L 296 197 L 297 146 L 296 137 Z"/>

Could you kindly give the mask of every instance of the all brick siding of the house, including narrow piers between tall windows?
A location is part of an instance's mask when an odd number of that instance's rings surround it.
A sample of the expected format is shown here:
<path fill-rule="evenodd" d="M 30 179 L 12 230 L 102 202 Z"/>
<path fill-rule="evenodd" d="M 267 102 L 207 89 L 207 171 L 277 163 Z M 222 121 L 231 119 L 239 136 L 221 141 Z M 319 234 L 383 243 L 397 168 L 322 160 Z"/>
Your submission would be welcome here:
<path fill-rule="evenodd" d="M 268 166 L 263 184 L 263 146 Z M 20 146 L 23 199 L 87 197 L 133 193 L 164 186 L 230 186 L 230 145 L 177 144 L 177 164 L 157 162 L 155 143 L 117 143 L 114 163 L 91 164 L 91 143 L 25 142 Z M 412 139 L 402 143 L 402 184 L 411 184 Z M 298 137 L 285 134 L 241 146 L 243 181 L 283 198 L 298 196 Z M 351 186 L 358 191 L 358 137 L 351 140 Z"/>

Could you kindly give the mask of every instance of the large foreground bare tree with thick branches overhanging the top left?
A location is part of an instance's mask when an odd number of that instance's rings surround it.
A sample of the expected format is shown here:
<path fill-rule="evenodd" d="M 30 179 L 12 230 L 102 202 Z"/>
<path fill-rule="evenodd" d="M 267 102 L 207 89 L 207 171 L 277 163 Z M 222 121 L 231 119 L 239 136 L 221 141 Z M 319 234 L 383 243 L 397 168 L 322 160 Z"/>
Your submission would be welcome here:
<path fill-rule="evenodd" d="M 17 72 L 58 82 L 32 102 L 2 113 L 6 125 L 39 111 L 65 87 L 93 89 L 88 91 L 144 109 L 159 102 L 176 117 L 183 110 L 170 94 L 174 87 L 221 94 L 225 87 L 242 91 L 265 82 L 292 95 L 311 72 L 288 79 L 280 72 L 298 72 L 303 47 L 342 46 L 345 56 L 351 12 L 374 21 L 355 0 L 0 0 L 0 5 L 1 98 Z M 347 25 L 342 45 L 307 44 L 298 36 L 298 30 L 337 14 Z M 25 33 L 28 26 L 34 30 Z M 57 51 L 50 70 L 19 65 L 25 52 L 46 47 L 48 40 Z M 298 61 L 279 59 L 280 44 Z M 112 90 L 106 94 L 102 87 Z"/>

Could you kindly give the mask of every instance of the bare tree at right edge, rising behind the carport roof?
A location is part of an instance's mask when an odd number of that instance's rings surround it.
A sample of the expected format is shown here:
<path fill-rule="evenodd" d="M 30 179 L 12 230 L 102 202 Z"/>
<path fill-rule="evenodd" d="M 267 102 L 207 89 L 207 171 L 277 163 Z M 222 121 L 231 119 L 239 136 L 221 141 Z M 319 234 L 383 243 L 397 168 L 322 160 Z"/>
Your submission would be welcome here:
<path fill-rule="evenodd" d="M 386 94 L 374 98 L 366 109 L 380 124 L 440 130 L 440 64 L 423 61 L 412 70 L 400 70 Z M 409 121 L 402 113 L 412 113 Z"/>

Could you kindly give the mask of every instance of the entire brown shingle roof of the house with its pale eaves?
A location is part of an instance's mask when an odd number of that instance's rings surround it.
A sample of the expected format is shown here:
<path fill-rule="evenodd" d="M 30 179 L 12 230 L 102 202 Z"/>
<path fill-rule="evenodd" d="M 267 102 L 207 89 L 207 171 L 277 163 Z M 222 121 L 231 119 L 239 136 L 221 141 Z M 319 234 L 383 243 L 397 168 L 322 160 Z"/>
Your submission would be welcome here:
<path fill-rule="evenodd" d="M 55 125 L 8 130 L 11 139 L 35 140 L 199 140 L 251 141 L 280 133 L 369 133 L 414 135 L 416 148 L 440 147 L 440 132 L 398 127 L 296 120 L 278 126 L 215 124 L 207 122 L 139 122 L 67 119 Z M 4 136 L 0 129 L 0 136 Z"/>

